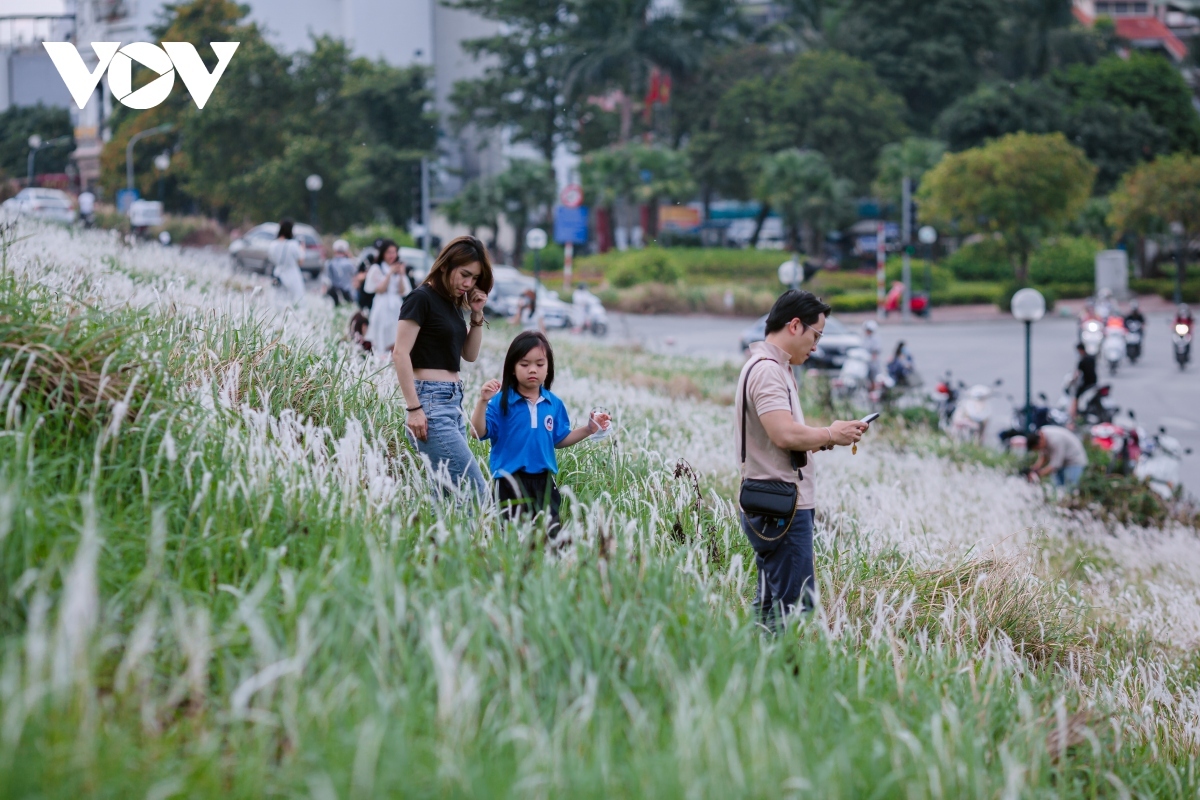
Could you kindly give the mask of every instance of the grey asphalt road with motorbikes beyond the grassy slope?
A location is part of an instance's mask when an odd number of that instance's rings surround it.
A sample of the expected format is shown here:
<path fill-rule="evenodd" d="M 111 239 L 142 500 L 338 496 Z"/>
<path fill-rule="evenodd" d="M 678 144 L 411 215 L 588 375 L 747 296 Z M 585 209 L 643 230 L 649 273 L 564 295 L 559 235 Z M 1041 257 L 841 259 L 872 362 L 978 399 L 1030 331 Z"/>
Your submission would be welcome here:
<path fill-rule="evenodd" d="M 656 353 L 678 353 L 715 360 L 742 359 L 738 341 L 742 331 L 754 320 L 725 317 L 677 317 L 611 314 L 608 341 L 638 343 Z M 1193 348 L 1193 362 L 1181 372 L 1175 365 L 1169 333 L 1170 319 L 1164 314 L 1147 314 L 1142 357 L 1136 365 L 1124 362 L 1117 374 L 1100 372 L 1102 383 L 1112 384 L 1112 399 L 1122 408 L 1133 409 L 1138 420 L 1148 429 L 1159 425 L 1178 438 L 1193 455 L 1184 457 L 1183 485 L 1200 494 L 1200 354 Z M 1013 396 L 1016 404 L 1025 395 L 1025 333 L 1024 326 L 1012 319 L 962 323 L 904 324 L 889 321 L 880 330 L 884 354 L 890 354 L 904 339 L 929 387 L 949 369 L 956 379 L 968 385 L 991 383 L 1000 378 L 1002 386 L 992 399 L 991 433 L 1009 423 Z M 1046 318 L 1033 325 L 1032 336 L 1033 396 L 1045 392 L 1056 399 L 1063 378 L 1075 368 L 1075 323 L 1073 319 Z"/>

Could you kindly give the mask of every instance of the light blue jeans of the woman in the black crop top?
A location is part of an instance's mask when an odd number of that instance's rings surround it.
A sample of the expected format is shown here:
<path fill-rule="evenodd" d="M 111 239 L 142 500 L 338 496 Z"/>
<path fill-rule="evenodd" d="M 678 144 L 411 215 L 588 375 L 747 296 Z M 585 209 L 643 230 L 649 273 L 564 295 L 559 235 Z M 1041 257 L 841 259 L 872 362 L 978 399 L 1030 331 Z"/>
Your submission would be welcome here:
<path fill-rule="evenodd" d="M 418 380 L 416 398 L 428 420 L 425 441 L 407 427 L 408 440 L 416 452 L 430 459 L 431 480 L 442 497 L 474 493 L 482 501 L 488 497 L 487 483 L 467 445 L 467 423 L 462 411 L 462 384 L 449 380 Z"/>

